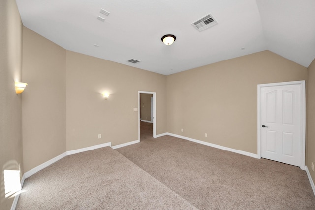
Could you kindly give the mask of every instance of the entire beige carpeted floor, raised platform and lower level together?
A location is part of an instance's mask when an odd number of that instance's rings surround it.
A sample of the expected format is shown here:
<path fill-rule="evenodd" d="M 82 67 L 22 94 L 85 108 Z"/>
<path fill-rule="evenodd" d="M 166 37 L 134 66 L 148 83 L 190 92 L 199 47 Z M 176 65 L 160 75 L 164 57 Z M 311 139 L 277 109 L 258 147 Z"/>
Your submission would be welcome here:
<path fill-rule="evenodd" d="M 140 143 L 67 156 L 26 179 L 23 191 L 18 210 L 315 210 L 300 168 L 171 136 L 154 139 L 146 122 Z"/>

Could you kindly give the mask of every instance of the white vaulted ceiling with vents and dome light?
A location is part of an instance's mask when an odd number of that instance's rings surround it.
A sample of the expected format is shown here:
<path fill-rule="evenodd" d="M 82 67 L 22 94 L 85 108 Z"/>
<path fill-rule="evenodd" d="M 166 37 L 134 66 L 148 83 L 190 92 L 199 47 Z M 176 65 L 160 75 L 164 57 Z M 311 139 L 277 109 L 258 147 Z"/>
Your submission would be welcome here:
<path fill-rule="evenodd" d="M 315 0 L 16 2 L 25 27 L 66 50 L 164 75 L 263 50 L 305 67 L 315 58 Z M 209 13 L 217 25 L 191 25 Z M 173 45 L 163 44 L 165 34 L 176 36 Z"/>

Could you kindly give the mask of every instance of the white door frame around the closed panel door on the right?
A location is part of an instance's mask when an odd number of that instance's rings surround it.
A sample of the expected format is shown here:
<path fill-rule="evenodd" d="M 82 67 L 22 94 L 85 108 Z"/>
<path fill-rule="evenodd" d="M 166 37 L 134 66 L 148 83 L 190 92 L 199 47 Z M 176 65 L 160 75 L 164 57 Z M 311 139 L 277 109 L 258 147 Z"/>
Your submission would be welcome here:
<path fill-rule="evenodd" d="M 292 82 L 281 82 L 281 83 L 268 83 L 268 84 L 258 84 L 257 85 L 257 155 L 261 158 L 261 106 L 260 106 L 260 94 L 261 88 L 271 87 L 271 86 L 284 86 L 284 85 L 300 85 L 301 87 L 301 164 L 300 168 L 305 170 L 305 135 L 306 135 L 306 93 L 305 93 L 305 80 L 292 81 Z"/>

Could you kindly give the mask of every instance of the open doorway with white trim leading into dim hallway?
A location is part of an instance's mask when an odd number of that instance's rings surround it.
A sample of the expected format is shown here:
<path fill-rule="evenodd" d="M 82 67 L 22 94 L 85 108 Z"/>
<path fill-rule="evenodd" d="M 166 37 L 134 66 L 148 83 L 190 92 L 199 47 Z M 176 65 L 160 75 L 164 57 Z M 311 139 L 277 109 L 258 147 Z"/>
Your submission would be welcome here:
<path fill-rule="evenodd" d="M 141 127 L 151 129 L 151 137 L 156 138 L 156 93 L 138 91 L 138 110 L 138 139 L 141 141 Z"/>

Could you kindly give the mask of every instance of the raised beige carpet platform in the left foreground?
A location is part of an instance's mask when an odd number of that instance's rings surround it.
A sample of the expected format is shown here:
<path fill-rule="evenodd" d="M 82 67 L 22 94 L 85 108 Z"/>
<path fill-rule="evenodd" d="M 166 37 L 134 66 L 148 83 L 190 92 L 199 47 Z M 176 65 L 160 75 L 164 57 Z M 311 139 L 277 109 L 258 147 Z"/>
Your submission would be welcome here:
<path fill-rule="evenodd" d="M 110 147 L 70 155 L 26 179 L 17 210 L 193 210 Z"/>

